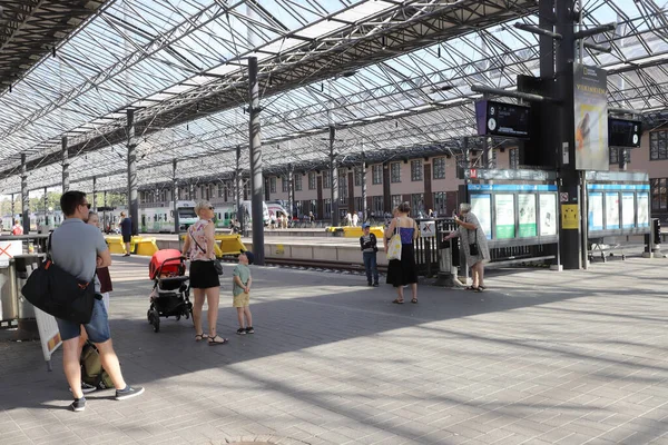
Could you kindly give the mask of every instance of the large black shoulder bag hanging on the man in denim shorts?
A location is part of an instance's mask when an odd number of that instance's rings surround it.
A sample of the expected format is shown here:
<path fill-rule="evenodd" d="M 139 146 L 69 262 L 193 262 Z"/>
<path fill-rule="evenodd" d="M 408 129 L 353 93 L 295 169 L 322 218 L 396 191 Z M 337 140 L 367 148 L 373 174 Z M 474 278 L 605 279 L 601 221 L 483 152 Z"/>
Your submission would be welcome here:
<path fill-rule="evenodd" d="M 84 281 L 56 265 L 51 258 L 51 235 L 47 258 L 32 270 L 21 294 L 35 307 L 53 317 L 86 325 L 95 305 L 95 275 Z"/>

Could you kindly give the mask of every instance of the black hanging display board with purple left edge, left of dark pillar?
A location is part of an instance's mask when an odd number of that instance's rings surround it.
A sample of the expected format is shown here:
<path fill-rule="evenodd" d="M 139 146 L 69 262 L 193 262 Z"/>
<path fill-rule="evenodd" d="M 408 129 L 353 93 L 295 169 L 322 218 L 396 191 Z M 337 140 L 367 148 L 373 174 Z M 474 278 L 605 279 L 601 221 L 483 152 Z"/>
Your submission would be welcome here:
<path fill-rule="evenodd" d="M 475 102 L 478 136 L 529 138 L 530 110 L 521 105 L 480 100 Z"/>

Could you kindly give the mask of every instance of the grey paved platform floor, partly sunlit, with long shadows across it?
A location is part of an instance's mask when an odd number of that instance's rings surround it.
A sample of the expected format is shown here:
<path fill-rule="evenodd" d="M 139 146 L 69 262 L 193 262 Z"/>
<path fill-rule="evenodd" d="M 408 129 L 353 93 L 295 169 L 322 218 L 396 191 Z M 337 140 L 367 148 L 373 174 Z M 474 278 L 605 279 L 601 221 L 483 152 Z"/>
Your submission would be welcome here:
<path fill-rule="evenodd" d="M 480 294 L 421 284 L 418 305 L 253 267 L 246 336 L 225 264 L 230 344 L 209 347 L 186 319 L 155 334 L 148 260 L 114 259 L 114 344 L 146 393 L 69 412 L 61 352 L 48 373 L 39 343 L 0 342 L 0 445 L 668 444 L 668 260 L 495 270 Z"/>

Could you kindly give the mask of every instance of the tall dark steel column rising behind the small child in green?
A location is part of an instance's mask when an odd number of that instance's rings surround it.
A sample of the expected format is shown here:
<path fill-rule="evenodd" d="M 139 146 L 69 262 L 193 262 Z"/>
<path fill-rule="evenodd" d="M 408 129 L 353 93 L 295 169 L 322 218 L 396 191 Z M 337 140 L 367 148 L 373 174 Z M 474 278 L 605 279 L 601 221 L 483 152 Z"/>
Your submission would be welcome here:
<path fill-rule="evenodd" d="M 262 142 L 259 137 L 259 85 L 257 81 L 257 58 L 248 58 L 248 132 L 250 137 L 250 194 L 253 208 L 253 254 L 255 264 L 264 266 L 264 212 L 262 180 Z"/>

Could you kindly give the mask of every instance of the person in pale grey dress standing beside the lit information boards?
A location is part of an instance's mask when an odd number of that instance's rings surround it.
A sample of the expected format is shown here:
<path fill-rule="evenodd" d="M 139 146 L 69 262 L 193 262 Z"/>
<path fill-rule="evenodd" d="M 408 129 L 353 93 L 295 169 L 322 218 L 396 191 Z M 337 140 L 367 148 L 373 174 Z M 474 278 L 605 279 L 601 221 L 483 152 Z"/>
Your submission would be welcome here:
<path fill-rule="evenodd" d="M 459 229 L 448 235 L 444 240 L 460 237 L 461 248 L 466 257 L 466 265 L 471 268 L 473 284 L 466 287 L 466 290 L 483 291 L 484 287 L 484 264 L 490 260 L 490 248 L 487 236 L 480 226 L 478 217 L 471 212 L 471 205 L 460 204 L 460 216 L 454 215 L 454 222 Z"/>

